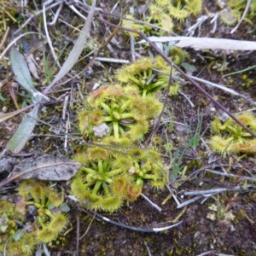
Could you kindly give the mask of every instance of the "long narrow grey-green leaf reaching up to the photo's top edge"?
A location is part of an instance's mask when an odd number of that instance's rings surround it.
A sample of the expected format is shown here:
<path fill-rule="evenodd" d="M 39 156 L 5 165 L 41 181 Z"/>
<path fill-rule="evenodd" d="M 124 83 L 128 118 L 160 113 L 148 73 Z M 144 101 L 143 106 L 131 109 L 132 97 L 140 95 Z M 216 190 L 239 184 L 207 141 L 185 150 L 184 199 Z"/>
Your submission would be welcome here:
<path fill-rule="evenodd" d="M 53 81 L 43 91 L 44 94 L 47 94 L 48 91 L 51 89 L 51 87 L 55 85 L 55 83 L 59 81 L 61 78 L 63 78 L 70 71 L 70 69 L 75 65 L 75 63 L 79 60 L 79 56 L 81 55 L 84 49 L 87 38 L 89 38 L 90 26 L 93 20 L 95 7 L 96 7 L 96 0 L 94 0 L 91 5 L 90 13 L 84 24 L 82 32 L 80 33 L 78 40 L 76 41 L 76 43 L 73 46 L 73 49 L 68 55 L 67 60 L 64 62 L 59 73 L 57 73 L 57 75 L 55 76 L 55 79 L 53 79 Z"/>

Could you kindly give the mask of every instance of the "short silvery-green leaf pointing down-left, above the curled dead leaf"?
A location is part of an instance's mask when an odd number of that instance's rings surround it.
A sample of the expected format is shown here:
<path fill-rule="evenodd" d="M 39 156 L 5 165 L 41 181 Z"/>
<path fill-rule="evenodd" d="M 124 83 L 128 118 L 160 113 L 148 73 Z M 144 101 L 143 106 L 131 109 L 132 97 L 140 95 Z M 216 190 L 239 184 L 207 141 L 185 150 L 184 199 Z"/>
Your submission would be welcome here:
<path fill-rule="evenodd" d="M 17 131 L 6 145 L 13 154 L 17 154 L 25 146 L 26 142 L 32 135 L 35 125 L 37 124 L 39 104 L 36 104 L 30 113 L 26 114 Z"/>

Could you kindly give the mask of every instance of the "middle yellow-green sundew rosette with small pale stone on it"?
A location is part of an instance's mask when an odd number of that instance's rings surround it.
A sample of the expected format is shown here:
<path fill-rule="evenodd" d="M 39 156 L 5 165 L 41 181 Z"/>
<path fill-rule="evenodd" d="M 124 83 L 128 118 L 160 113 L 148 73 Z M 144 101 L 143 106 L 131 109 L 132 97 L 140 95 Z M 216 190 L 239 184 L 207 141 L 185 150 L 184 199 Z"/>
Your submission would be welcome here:
<path fill-rule="evenodd" d="M 86 136 L 142 140 L 149 129 L 149 119 L 158 115 L 162 104 L 153 97 L 139 95 L 138 90 L 118 84 L 102 87 L 97 96 L 94 91 L 87 99 L 90 109 L 79 113 L 79 128 Z M 108 125 L 108 131 L 97 135 L 99 125 Z M 93 133 L 94 132 L 94 133 Z"/>

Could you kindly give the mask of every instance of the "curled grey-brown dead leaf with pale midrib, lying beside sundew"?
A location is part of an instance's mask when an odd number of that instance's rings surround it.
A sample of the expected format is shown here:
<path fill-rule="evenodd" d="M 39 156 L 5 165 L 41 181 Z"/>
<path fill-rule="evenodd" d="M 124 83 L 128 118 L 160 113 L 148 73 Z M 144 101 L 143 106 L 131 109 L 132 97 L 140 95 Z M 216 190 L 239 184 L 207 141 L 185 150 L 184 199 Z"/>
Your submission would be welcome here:
<path fill-rule="evenodd" d="M 3 180 L 0 187 L 16 179 L 35 178 L 40 180 L 61 181 L 73 177 L 82 165 L 65 156 L 45 154 L 38 158 L 20 161 L 11 177 Z"/>

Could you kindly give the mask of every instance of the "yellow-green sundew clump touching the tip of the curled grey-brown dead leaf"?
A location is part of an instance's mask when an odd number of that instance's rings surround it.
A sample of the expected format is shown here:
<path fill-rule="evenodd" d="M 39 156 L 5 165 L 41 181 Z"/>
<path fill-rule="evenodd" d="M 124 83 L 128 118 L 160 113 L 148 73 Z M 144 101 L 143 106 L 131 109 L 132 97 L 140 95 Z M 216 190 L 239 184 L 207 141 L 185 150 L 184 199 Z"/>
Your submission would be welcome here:
<path fill-rule="evenodd" d="M 111 142 L 122 152 L 94 146 L 75 156 L 84 166 L 73 178 L 71 191 L 92 210 L 114 212 L 124 201 L 137 200 L 145 179 L 155 188 L 166 184 L 166 171 L 154 148 L 131 148 L 126 138 L 108 137 L 104 144 Z"/>

